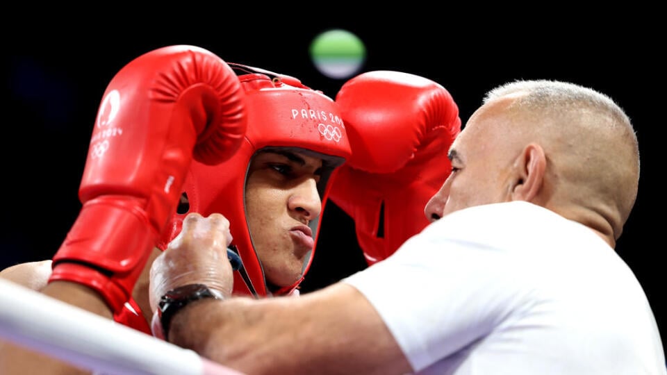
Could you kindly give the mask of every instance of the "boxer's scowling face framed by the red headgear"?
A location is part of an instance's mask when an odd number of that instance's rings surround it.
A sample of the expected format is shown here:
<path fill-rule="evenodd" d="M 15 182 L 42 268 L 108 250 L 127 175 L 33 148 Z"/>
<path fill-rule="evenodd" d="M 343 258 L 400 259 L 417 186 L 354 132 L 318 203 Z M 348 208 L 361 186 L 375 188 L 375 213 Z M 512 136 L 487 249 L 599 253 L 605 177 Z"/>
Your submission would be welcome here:
<path fill-rule="evenodd" d="M 298 152 L 267 151 L 250 162 L 247 220 L 269 283 L 284 287 L 302 276 L 314 246 L 308 222 L 322 210 L 317 189 L 321 171 L 322 159 Z"/>

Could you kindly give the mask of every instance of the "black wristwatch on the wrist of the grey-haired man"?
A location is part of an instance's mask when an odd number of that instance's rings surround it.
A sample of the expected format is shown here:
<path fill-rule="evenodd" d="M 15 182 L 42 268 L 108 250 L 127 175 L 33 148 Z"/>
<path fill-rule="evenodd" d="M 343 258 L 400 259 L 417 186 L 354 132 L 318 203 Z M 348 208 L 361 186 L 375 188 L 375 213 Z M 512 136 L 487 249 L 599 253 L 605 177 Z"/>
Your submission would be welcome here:
<path fill-rule="evenodd" d="M 160 297 L 158 317 L 160 318 L 165 341 L 167 341 L 167 334 L 174 315 L 181 308 L 188 306 L 188 303 L 205 298 L 224 299 L 224 296 L 215 289 L 209 289 L 204 284 L 188 284 L 174 288 Z"/>

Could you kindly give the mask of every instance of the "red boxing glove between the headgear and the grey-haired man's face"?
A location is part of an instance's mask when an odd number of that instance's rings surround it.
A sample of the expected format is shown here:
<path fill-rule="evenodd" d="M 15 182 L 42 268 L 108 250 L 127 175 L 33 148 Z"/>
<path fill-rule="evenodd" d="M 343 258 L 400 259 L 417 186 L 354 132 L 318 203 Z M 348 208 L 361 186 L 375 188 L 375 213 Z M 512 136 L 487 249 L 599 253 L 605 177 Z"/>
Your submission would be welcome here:
<path fill-rule="evenodd" d="M 424 208 L 449 176 L 459 108 L 442 85 L 401 72 L 356 76 L 336 95 L 352 158 L 329 198 L 355 223 L 369 265 L 387 258 L 429 221 Z"/>

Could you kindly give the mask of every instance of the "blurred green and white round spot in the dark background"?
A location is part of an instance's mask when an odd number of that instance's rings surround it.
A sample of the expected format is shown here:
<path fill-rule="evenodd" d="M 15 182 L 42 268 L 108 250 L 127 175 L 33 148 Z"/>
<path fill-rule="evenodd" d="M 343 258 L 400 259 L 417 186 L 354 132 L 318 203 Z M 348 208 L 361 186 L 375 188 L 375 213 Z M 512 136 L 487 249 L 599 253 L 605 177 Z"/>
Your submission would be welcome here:
<path fill-rule="evenodd" d="M 349 78 L 361 70 L 366 47 L 354 33 L 336 28 L 316 36 L 310 53 L 320 73 L 329 78 Z"/>

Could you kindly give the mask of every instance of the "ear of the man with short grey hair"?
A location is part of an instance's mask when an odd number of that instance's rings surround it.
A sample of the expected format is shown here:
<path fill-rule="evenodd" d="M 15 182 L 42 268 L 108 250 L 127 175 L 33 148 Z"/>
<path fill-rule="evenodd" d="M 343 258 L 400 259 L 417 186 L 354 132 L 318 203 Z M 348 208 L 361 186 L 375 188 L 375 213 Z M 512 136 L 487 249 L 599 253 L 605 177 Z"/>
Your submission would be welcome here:
<path fill-rule="evenodd" d="M 539 144 L 530 143 L 524 147 L 516 160 L 518 178 L 512 189 L 513 201 L 532 201 L 544 183 L 547 158 Z"/>

